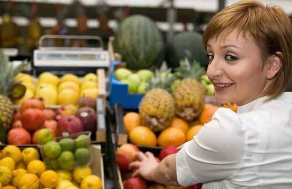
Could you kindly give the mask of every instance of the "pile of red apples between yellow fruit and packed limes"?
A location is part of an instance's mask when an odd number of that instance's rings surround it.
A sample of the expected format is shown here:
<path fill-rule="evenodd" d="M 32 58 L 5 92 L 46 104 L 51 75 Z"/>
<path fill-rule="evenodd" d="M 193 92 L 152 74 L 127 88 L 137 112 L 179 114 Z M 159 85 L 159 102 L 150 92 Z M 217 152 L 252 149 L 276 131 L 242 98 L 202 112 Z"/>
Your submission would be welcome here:
<path fill-rule="evenodd" d="M 14 145 L 38 144 L 37 132 L 47 128 L 53 137 L 63 132 L 74 134 L 82 131 L 95 133 L 96 101 L 90 96 L 81 96 L 75 105 L 61 105 L 56 111 L 46 108 L 41 98 L 30 98 L 15 110 L 13 124 L 7 133 L 7 143 Z"/>

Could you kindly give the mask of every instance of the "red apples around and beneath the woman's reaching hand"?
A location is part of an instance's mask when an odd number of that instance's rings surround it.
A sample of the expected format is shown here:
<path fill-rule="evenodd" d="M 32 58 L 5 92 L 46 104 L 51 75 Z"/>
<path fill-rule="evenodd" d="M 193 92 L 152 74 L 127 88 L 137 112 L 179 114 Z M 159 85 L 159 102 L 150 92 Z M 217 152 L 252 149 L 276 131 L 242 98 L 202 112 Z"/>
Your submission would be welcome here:
<path fill-rule="evenodd" d="M 115 161 L 121 171 L 124 189 L 201 189 L 202 183 L 189 187 L 171 187 L 148 182 L 140 176 L 131 177 L 135 170 L 129 170 L 128 166 L 131 162 L 136 161 L 135 154 L 139 151 L 140 149 L 131 143 L 123 144 L 117 149 Z M 178 152 L 179 149 L 177 147 L 168 145 L 160 151 L 159 156 L 156 157 L 156 161 L 160 162 L 165 157 Z"/>

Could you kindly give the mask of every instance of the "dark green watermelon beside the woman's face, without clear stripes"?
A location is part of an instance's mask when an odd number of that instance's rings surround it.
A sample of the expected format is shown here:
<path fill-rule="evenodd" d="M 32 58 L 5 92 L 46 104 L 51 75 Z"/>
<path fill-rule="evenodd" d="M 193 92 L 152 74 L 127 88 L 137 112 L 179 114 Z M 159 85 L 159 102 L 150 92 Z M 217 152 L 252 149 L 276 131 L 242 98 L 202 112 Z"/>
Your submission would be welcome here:
<path fill-rule="evenodd" d="M 174 36 L 166 47 L 165 61 L 170 68 L 180 66 L 180 61 L 187 58 L 190 63 L 195 60 L 207 69 L 208 59 L 202 45 L 202 35 L 197 32 L 182 32 Z"/>

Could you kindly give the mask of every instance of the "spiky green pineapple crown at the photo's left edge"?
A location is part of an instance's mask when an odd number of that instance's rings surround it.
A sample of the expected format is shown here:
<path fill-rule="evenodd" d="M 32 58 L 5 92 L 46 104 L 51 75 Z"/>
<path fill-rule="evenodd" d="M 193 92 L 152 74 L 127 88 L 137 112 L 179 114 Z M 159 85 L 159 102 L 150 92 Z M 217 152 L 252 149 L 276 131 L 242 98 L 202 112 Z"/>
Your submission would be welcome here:
<path fill-rule="evenodd" d="M 8 57 L 5 56 L 3 50 L 0 49 L 0 94 L 8 96 L 12 93 L 13 85 L 19 82 L 14 81 L 14 78 L 28 64 L 23 61 L 16 67 L 12 67 Z"/>

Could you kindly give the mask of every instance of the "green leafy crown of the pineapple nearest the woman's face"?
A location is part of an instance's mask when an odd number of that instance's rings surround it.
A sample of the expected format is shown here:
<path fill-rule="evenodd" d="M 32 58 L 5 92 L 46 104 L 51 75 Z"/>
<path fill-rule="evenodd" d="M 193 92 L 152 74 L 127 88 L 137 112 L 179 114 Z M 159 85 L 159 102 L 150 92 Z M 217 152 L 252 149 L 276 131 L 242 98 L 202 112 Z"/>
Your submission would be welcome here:
<path fill-rule="evenodd" d="M 180 66 L 174 69 L 175 77 L 177 79 L 192 78 L 199 80 L 202 75 L 206 73 L 205 69 L 201 67 L 196 60 L 191 64 L 187 58 L 180 61 Z"/>

